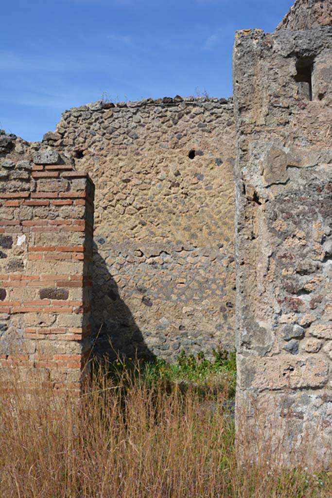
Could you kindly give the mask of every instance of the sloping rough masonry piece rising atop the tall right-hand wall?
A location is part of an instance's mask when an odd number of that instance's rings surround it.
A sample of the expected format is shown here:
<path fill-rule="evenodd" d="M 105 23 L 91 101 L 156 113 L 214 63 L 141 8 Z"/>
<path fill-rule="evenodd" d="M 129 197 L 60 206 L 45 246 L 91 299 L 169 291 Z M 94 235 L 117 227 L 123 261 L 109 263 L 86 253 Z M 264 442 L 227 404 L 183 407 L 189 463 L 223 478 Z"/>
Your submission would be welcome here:
<path fill-rule="evenodd" d="M 332 0 L 296 0 L 278 29 L 308 30 L 332 26 Z"/>

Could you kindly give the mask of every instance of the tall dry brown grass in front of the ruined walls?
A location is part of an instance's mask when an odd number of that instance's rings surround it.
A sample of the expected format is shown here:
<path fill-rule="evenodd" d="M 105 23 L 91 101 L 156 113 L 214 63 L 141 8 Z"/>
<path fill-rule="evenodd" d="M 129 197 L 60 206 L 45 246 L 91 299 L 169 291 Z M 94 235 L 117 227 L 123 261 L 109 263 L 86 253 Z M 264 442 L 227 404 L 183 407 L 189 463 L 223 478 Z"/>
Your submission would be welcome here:
<path fill-rule="evenodd" d="M 331 497 L 329 474 L 237 467 L 227 386 L 166 388 L 102 369 L 80 401 L 18 391 L 0 406 L 0 497 Z M 130 378 L 129 378 L 130 377 Z M 322 484 L 321 484 L 322 482 Z"/>

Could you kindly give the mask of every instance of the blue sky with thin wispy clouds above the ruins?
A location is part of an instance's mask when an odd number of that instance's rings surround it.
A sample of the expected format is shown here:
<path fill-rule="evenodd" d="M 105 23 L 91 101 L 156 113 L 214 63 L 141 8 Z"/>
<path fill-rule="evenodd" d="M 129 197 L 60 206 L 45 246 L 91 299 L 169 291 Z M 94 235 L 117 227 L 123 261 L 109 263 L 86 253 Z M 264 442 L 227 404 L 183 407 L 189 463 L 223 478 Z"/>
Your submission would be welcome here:
<path fill-rule="evenodd" d="M 0 128 L 26 140 L 99 100 L 232 94 L 234 31 L 293 0 L 15 0 L 1 5 Z"/>

